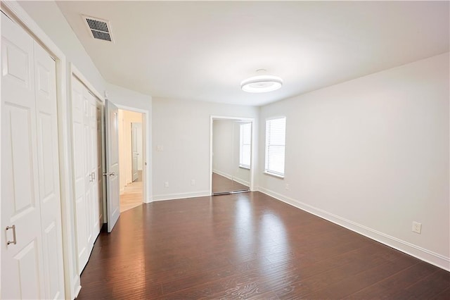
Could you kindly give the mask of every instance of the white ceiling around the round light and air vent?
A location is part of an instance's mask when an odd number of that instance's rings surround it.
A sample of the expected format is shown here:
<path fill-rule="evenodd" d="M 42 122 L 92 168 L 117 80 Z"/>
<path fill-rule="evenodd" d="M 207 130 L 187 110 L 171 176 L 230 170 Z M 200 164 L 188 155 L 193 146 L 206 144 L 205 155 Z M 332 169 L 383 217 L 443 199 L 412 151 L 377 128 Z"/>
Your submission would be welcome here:
<path fill-rule="evenodd" d="M 449 1 L 58 1 L 110 83 L 154 97 L 261 106 L 449 51 Z M 110 20 L 115 43 L 81 15 Z M 240 82 L 264 68 L 275 92 Z"/>

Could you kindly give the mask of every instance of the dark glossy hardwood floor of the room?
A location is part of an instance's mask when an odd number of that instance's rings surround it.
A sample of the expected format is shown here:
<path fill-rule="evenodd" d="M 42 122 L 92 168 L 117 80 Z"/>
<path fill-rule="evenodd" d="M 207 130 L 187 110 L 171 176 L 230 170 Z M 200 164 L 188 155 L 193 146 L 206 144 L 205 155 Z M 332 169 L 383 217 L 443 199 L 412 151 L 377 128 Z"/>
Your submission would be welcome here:
<path fill-rule="evenodd" d="M 450 273 L 259 192 L 160 201 L 102 232 L 79 299 L 450 299 Z"/>

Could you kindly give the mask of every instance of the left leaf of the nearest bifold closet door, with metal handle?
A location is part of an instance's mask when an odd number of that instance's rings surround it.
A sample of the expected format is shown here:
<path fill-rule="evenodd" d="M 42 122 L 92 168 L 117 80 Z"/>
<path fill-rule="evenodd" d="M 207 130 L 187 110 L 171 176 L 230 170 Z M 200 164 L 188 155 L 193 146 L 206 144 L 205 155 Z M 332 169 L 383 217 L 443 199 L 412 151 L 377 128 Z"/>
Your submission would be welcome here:
<path fill-rule="evenodd" d="M 33 40 L 4 15 L 1 70 L 1 298 L 44 298 Z"/>

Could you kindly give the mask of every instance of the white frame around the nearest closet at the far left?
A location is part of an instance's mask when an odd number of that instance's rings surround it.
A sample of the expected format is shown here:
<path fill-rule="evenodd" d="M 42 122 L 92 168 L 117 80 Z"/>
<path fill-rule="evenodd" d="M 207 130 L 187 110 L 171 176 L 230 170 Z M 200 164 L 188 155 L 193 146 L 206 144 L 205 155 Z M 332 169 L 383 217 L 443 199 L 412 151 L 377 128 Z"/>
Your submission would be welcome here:
<path fill-rule="evenodd" d="M 70 151 L 70 135 L 69 132 L 69 107 L 68 107 L 68 91 L 66 87 L 66 58 L 63 51 L 50 39 L 48 35 L 41 30 L 39 25 L 26 13 L 26 11 L 18 4 L 18 1 L 1 1 L 1 11 L 9 18 L 15 20 L 41 46 L 55 58 L 56 61 L 56 99 L 58 105 L 58 157 L 60 161 L 60 199 L 61 199 L 61 224 L 63 233 L 63 263 L 64 263 L 64 283 L 65 298 L 74 299 L 79 289 L 81 289 L 79 274 L 77 273 L 75 259 L 75 244 L 72 240 L 74 232 L 74 223 L 72 218 L 72 169 L 71 151 Z M 1 289 L 1 287 L 0 287 Z"/>

